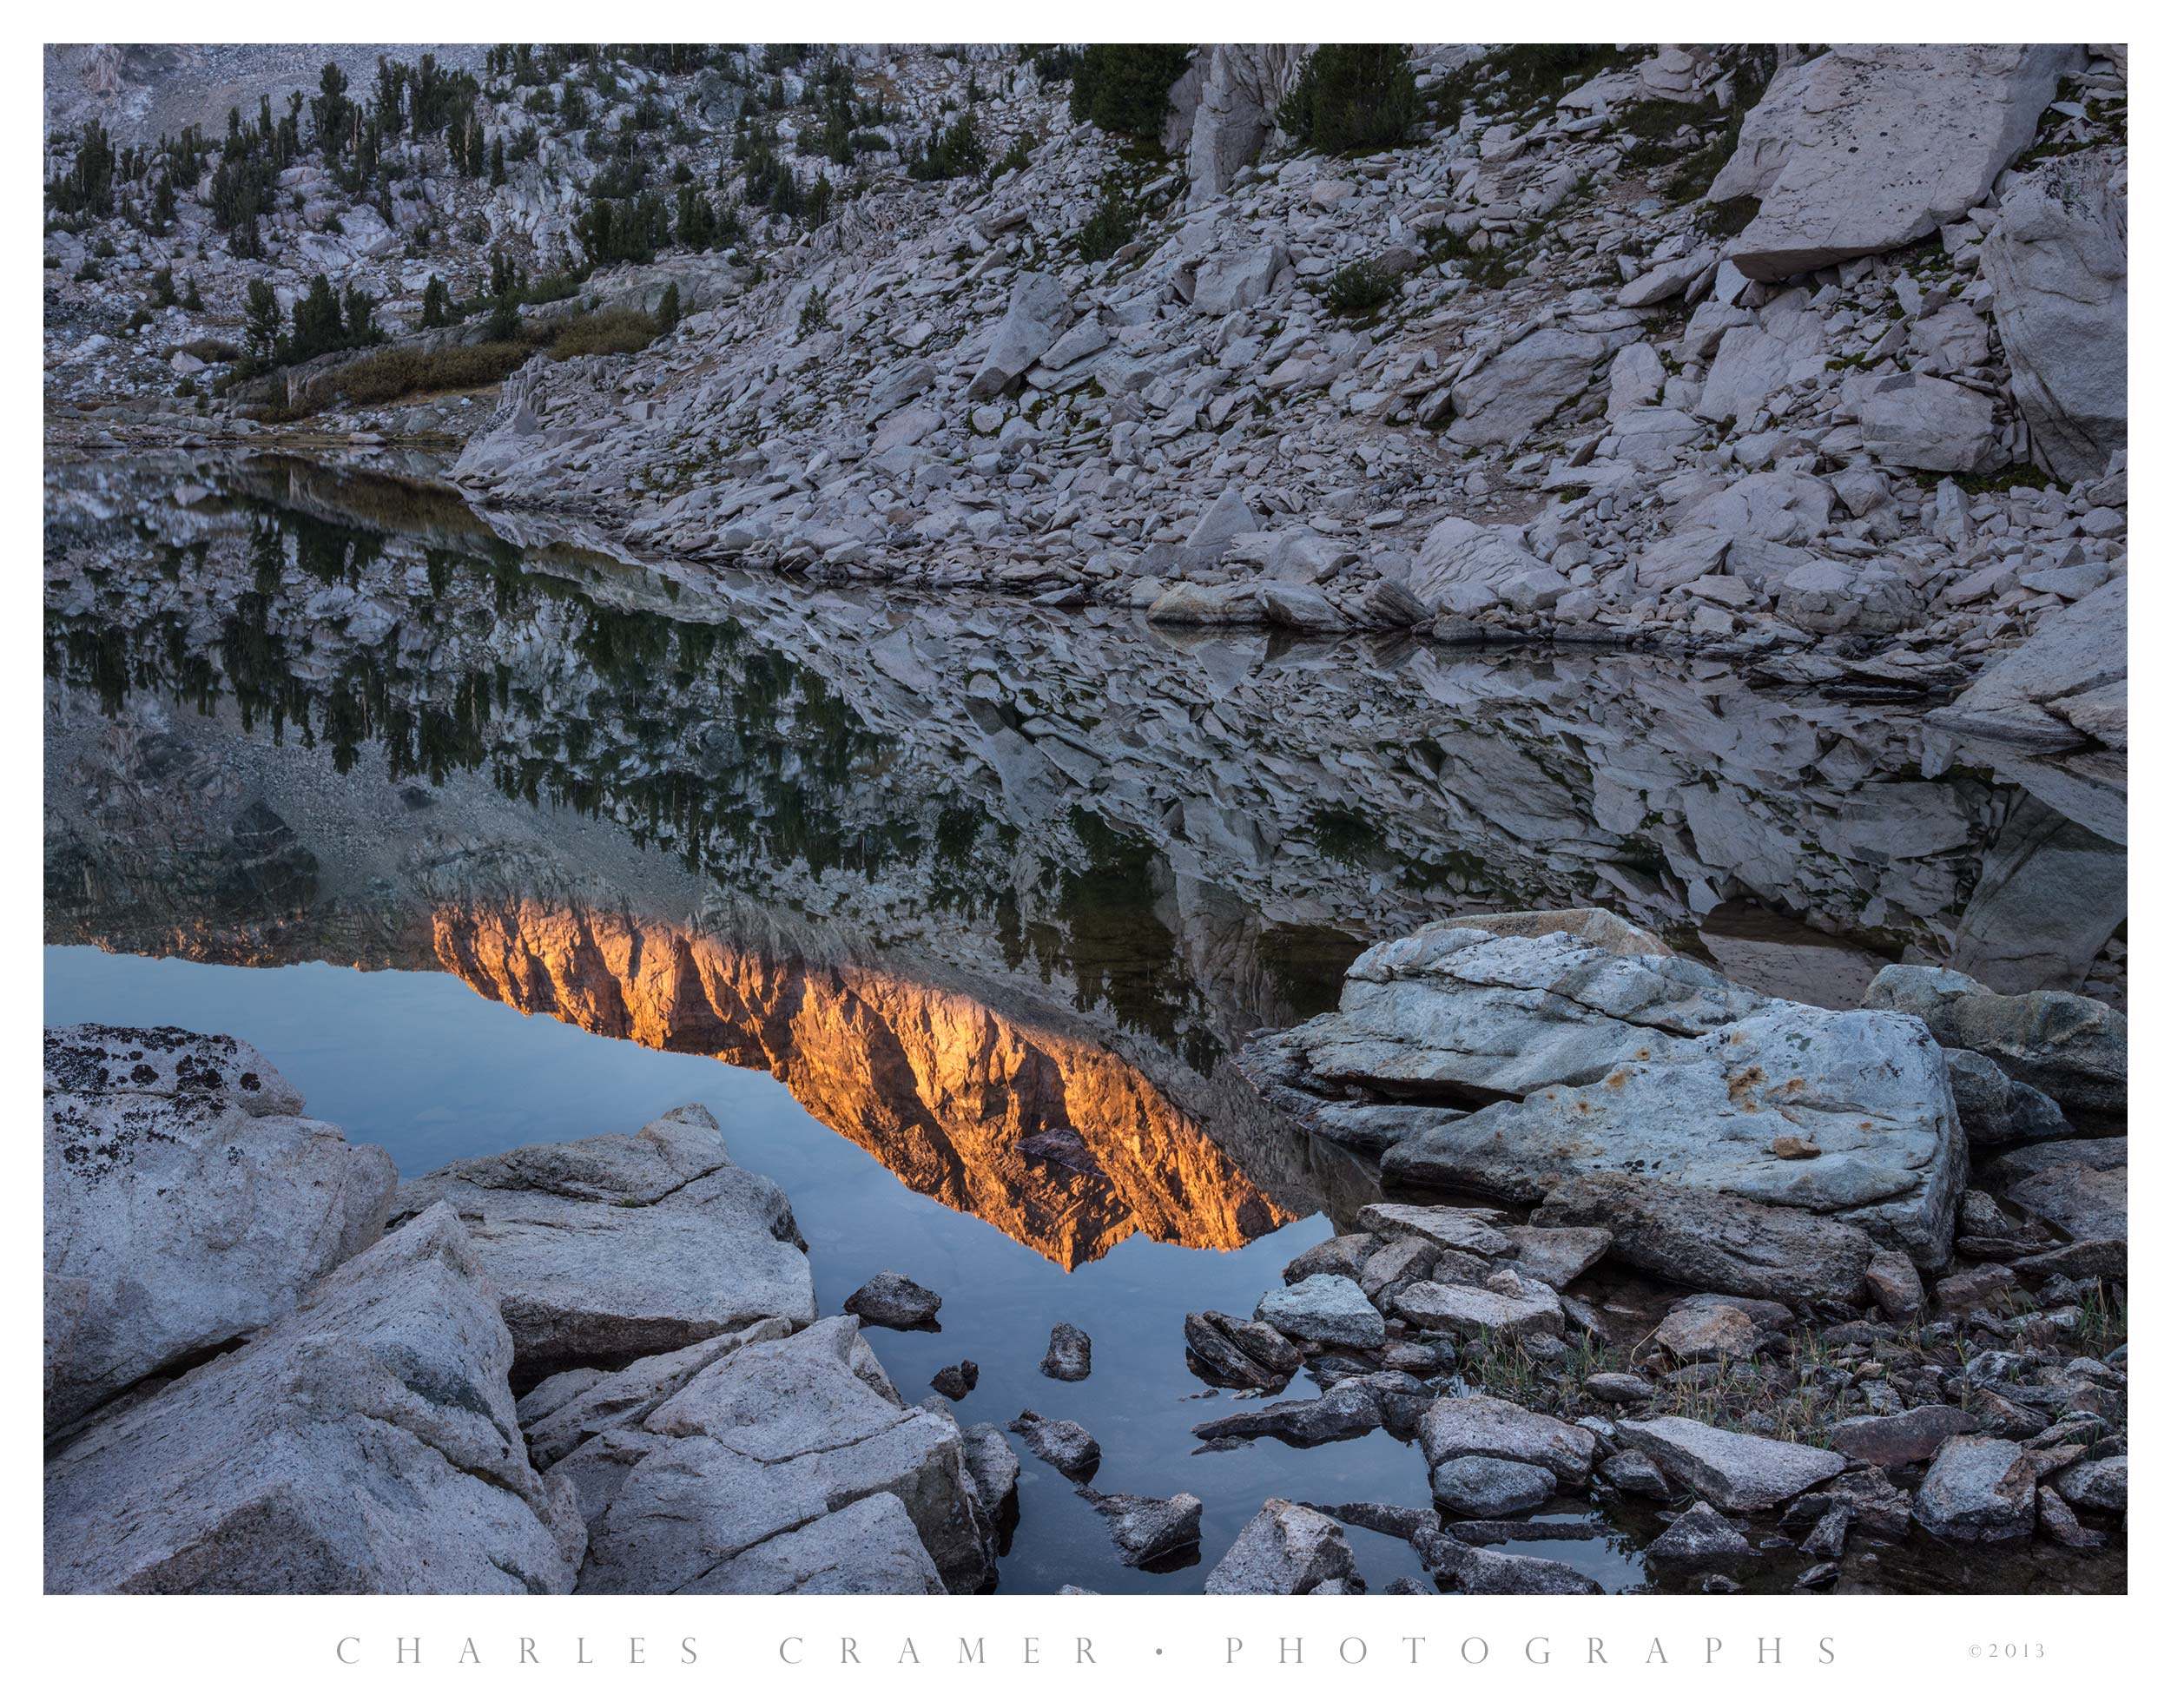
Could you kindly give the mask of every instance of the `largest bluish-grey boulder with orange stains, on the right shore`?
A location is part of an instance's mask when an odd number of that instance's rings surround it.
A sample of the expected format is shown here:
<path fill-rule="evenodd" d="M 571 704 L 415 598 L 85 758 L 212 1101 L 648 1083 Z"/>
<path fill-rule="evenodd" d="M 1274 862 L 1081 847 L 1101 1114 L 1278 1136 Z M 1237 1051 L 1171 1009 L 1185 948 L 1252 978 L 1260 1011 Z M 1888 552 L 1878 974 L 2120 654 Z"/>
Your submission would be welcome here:
<path fill-rule="evenodd" d="M 1389 1181 L 1539 1202 L 1626 1172 L 1852 1222 L 1930 1267 L 1952 1250 L 1967 1150 L 1928 1027 L 1761 996 L 1611 914 L 1379 944 L 1333 1014 L 1246 1046 L 1242 1068 L 1322 1137 L 1392 1137 Z M 1513 1237 L 1463 1211 L 1366 1213 L 1379 1233 L 1437 1220 L 1429 1237 L 1465 1250 Z"/>

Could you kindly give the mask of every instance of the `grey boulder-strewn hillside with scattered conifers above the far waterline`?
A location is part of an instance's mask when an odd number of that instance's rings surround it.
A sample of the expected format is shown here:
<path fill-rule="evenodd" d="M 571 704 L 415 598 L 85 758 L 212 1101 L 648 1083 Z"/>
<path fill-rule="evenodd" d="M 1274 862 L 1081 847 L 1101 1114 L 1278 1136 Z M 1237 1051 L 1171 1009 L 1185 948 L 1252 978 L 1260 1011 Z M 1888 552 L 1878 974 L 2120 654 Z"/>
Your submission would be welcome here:
<path fill-rule="evenodd" d="M 124 154 L 50 219 L 56 430 L 436 436 L 703 564 L 1897 684 L 2123 582 L 2123 48 L 634 52 L 436 67 L 363 191 L 313 95 L 254 256 L 215 150 L 163 224 Z M 317 273 L 391 343 L 252 371 L 250 284 Z"/>

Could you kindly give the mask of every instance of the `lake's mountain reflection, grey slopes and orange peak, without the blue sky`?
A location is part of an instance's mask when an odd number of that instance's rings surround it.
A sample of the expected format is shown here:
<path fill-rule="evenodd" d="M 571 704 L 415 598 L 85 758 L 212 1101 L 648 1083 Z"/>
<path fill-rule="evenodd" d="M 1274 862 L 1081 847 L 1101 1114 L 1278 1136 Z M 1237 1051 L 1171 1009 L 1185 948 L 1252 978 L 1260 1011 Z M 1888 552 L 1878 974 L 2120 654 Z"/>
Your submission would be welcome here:
<path fill-rule="evenodd" d="M 1769 673 L 682 579 L 291 460 L 59 464 L 46 521 L 48 938 L 758 1066 L 1066 1265 L 1361 1200 L 1227 1055 L 1424 918 L 2123 985 L 2121 779 L 2036 779 L 2075 823 Z"/>

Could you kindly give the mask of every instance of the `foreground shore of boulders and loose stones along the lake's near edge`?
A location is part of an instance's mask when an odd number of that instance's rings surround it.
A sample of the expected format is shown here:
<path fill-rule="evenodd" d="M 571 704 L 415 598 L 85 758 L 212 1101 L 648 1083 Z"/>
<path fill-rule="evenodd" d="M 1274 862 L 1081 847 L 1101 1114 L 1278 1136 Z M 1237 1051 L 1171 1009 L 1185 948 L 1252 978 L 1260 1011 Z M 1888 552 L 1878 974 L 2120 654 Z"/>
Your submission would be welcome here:
<path fill-rule="evenodd" d="M 1500 1552 L 1594 1500 L 1672 1589 L 2121 1547 L 2123 1048 L 2104 1005 L 1930 968 L 1774 1003 L 1594 912 L 1383 944 L 1244 1070 L 1402 1200 L 1185 1341 L 1246 1402 L 1203 1452 L 1385 1430 L 1411 1500 L 1270 1500 L 1207 1593 L 1359 1593 L 1346 1526 L 1411 1547 L 1394 1593 L 1594 1593 Z M 395 1183 L 234 1040 L 46 1061 L 48 1589 L 973 1593 L 1020 1450 L 1125 1563 L 1196 1558 L 1198 1500 L 1118 1491 L 1077 1424 L 907 1402 L 860 1322 L 942 1300 L 881 1274 L 818 1315 L 699 1107 Z M 1092 1343 L 1055 1324 L 1042 1369 Z"/>

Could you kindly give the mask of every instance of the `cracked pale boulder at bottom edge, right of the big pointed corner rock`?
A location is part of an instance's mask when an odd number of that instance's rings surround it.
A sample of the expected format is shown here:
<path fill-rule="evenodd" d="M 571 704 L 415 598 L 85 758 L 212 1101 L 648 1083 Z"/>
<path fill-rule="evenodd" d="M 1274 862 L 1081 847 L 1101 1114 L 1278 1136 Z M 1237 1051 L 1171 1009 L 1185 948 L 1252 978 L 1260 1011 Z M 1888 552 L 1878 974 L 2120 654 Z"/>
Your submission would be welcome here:
<path fill-rule="evenodd" d="M 727 1352 L 562 1467 L 593 1513 L 582 1593 L 736 1593 L 769 1571 L 751 1550 L 777 1554 L 786 1532 L 875 1495 L 903 1502 L 949 1589 L 979 1589 L 992 1565 L 957 1422 L 905 1406 L 853 1317 Z"/>

